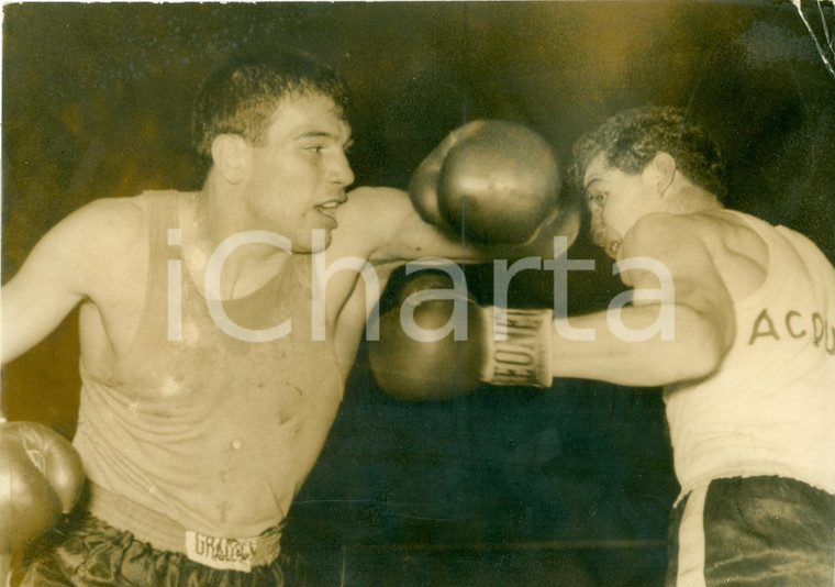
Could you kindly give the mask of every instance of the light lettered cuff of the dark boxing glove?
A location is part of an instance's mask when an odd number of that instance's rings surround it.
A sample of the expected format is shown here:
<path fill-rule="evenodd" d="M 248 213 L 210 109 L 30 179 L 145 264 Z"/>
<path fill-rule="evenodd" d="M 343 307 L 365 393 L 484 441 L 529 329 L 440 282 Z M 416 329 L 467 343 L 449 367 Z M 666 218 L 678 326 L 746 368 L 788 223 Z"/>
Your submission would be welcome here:
<path fill-rule="evenodd" d="M 496 386 L 552 386 L 550 309 L 493 308 L 492 340 L 481 380 Z"/>

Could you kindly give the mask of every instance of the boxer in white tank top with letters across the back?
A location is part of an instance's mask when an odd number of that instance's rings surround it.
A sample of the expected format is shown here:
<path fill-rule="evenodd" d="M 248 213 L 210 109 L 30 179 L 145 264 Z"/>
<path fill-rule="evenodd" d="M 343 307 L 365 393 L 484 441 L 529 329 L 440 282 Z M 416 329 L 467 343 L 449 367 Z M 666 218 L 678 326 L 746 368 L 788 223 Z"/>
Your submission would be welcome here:
<path fill-rule="evenodd" d="M 615 115 L 577 143 L 575 159 L 594 240 L 619 262 L 632 303 L 547 330 L 524 314 L 503 319 L 506 340 L 461 343 L 469 348 L 456 357 L 468 357 L 469 374 L 455 380 L 511 370 L 515 357 L 513 373 L 532 385 L 664 387 L 681 485 L 667 585 L 831 587 L 835 269 L 806 237 L 723 207 L 719 151 L 679 110 Z M 447 310 L 419 308 L 426 322 Z M 492 322 L 489 309 L 478 314 Z M 534 335 L 550 351 L 527 352 L 525 363 L 516 351 L 534 348 Z M 428 344 L 421 353 L 443 363 L 449 341 L 432 344 L 436 354 Z M 403 339 L 410 357 L 414 345 Z M 408 368 L 396 354 L 388 368 Z M 410 399 L 443 395 L 426 380 L 391 385 Z"/>

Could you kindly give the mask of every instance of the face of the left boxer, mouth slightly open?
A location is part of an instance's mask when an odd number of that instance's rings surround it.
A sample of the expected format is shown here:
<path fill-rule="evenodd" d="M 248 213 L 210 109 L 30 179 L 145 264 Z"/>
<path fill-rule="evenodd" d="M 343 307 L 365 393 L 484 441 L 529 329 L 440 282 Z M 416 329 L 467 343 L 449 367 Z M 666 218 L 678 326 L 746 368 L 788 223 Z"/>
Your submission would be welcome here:
<path fill-rule="evenodd" d="M 350 128 L 330 98 L 282 99 L 266 143 L 250 147 L 245 206 L 255 228 L 290 239 L 300 253 L 313 251 L 311 231 L 321 229 L 327 246 L 336 207 L 354 181 L 349 142 Z"/>

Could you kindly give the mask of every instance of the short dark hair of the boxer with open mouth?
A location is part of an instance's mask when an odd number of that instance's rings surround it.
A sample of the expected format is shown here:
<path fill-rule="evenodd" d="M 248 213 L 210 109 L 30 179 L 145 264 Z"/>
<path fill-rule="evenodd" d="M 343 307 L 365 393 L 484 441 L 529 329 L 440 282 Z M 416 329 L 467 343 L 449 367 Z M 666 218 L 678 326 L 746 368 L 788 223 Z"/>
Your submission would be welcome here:
<path fill-rule="evenodd" d="M 192 118 L 194 146 L 204 163 L 220 134 L 236 134 L 260 145 L 279 101 L 292 95 L 331 98 L 347 117 L 348 86 L 331 67 L 300 52 L 238 56 L 218 68 L 203 84 Z"/>

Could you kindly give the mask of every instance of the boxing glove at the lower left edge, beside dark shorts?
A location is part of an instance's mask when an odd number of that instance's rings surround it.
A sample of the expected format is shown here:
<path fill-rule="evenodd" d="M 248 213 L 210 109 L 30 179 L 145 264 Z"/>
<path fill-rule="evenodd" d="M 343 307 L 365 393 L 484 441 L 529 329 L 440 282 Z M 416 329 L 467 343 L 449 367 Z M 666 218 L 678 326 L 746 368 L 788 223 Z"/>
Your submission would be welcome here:
<path fill-rule="evenodd" d="M 0 552 L 21 552 L 78 501 L 85 475 L 73 445 L 33 422 L 0 423 Z"/>

